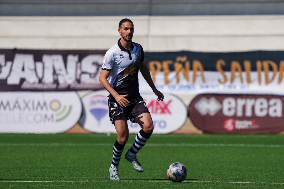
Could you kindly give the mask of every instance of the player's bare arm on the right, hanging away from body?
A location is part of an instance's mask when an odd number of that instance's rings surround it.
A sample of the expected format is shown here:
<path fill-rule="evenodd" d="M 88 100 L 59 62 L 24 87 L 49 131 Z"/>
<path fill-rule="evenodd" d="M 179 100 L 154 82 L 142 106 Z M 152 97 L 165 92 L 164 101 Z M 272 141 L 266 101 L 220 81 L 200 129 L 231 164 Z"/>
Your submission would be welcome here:
<path fill-rule="evenodd" d="M 145 62 L 145 60 L 143 60 L 142 62 L 140 62 L 139 64 L 139 70 L 142 74 L 142 76 L 144 77 L 144 79 L 146 80 L 146 82 L 149 84 L 149 86 L 152 88 L 153 92 L 155 95 L 157 95 L 159 101 L 163 101 L 164 100 L 164 95 L 157 90 L 152 78 L 151 78 L 151 74 L 150 71 L 147 67 L 147 64 Z"/>

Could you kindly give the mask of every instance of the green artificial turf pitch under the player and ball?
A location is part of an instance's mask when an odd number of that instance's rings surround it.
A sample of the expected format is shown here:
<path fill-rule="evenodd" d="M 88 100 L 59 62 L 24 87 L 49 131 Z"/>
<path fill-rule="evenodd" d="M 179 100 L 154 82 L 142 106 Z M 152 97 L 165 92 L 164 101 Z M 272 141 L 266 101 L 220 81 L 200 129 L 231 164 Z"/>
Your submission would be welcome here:
<path fill-rule="evenodd" d="M 124 153 L 132 145 L 130 135 Z M 138 173 L 120 161 L 109 180 L 116 135 L 0 134 L 0 188 L 284 188 L 284 135 L 152 135 Z M 167 178 L 181 162 L 187 178 Z"/>

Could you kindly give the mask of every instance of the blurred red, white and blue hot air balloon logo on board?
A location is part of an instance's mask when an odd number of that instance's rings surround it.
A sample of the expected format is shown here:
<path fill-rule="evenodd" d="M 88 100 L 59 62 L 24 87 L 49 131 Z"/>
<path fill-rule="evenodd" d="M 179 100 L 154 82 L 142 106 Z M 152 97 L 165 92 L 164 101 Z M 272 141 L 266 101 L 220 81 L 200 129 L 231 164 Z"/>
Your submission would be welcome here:
<path fill-rule="evenodd" d="M 101 120 L 108 113 L 108 98 L 104 95 L 94 95 L 90 99 L 90 112 L 101 126 Z"/>

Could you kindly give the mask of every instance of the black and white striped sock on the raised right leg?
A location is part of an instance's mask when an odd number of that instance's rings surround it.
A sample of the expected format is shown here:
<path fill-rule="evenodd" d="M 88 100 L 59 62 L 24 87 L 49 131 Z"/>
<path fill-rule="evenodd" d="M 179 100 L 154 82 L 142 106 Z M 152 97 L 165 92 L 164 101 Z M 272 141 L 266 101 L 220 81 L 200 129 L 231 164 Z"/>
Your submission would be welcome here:
<path fill-rule="evenodd" d="M 134 143 L 131 146 L 131 148 L 128 150 L 129 156 L 134 156 L 143 148 L 143 146 L 146 144 L 147 140 L 150 138 L 152 133 L 146 133 L 141 129 L 138 134 L 135 137 Z"/>

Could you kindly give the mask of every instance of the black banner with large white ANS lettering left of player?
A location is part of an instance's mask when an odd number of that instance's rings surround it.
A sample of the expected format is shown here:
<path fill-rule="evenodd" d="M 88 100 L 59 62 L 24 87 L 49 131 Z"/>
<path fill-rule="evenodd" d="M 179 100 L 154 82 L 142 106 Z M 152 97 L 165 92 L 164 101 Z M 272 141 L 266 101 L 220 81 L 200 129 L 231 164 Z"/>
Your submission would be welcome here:
<path fill-rule="evenodd" d="M 0 50 L 0 91 L 98 90 L 106 51 Z"/>

